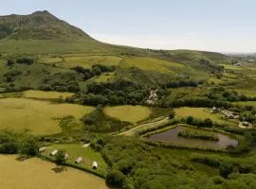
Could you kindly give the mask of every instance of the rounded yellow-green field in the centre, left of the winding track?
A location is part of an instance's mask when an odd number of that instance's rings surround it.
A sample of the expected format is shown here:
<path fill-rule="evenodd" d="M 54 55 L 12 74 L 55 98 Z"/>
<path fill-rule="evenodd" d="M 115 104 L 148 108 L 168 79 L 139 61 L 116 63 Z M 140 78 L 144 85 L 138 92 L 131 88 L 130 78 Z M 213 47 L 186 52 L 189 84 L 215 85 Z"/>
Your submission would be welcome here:
<path fill-rule="evenodd" d="M 104 113 L 120 121 L 136 124 L 138 121 L 146 119 L 152 112 L 149 108 L 143 106 L 116 106 L 105 108 Z"/>

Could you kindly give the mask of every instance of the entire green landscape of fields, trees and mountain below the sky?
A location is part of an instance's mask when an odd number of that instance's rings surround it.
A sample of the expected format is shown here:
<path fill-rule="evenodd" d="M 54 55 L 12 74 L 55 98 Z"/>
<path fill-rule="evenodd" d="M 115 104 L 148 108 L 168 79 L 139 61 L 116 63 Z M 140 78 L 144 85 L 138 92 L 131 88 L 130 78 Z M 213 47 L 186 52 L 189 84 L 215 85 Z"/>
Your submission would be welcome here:
<path fill-rule="evenodd" d="M 255 188 L 251 59 L 16 16 L 0 17 L 0 187 Z"/>

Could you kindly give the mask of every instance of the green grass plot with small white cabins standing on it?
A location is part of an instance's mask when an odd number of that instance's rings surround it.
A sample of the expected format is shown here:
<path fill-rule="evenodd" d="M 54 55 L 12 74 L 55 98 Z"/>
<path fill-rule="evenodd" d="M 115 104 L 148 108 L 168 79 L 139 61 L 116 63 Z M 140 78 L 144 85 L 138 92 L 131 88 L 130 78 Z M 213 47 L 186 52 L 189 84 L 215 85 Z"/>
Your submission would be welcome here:
<path fill-rule="evenodd" d="M 67 163 L 75 164 L 75 161 L 78 157 L 82 157 L 82 163 L 78 166 L 86 168 L 90 171 L 97 172 L 103 177 L 106 177 L 107 174 L 107 163 L 101 157 L 101 153 L 95 151 L 92 147 L 82 147 L 82 144 L 68 144 L 68 145 L 54 145 L 46 146 L 46 152 L 44 156 L 49 157 L 49 153 L 54 149 L 65 149 L 66 153 L 69 156 Z M 96 161 L 99 163 L 97 170 L 92 169 L 92 163 Z"/>

